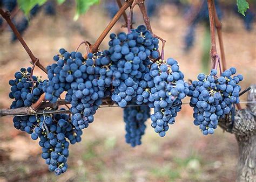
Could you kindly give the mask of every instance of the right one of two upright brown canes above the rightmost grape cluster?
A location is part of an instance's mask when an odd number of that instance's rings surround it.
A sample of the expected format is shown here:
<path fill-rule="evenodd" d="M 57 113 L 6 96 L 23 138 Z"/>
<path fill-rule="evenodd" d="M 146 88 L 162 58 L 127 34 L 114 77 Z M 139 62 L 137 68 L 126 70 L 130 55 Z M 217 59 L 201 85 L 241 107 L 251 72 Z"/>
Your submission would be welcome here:
<path fill-rule="evenodd" d="M 219 46 L 220 46 L 221 65 L 222 65 L 223 71 L 225 71 L 227 69 L 227 66 L 226 66 L 226 59 L 225 59 L 225 52 L 224 52 L 223 36 L 221 31 L 222 25 L 215 8 L 215 3 L 213 3 L 213 11 L 214 11 L 214 23 L 217 29 Z"/>

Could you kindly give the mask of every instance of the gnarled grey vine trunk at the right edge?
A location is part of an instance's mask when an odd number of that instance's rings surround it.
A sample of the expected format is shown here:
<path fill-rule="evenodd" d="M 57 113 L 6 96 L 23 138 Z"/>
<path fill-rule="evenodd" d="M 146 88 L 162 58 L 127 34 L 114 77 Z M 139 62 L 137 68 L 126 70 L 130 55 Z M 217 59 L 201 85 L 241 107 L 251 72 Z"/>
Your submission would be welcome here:
<path fill-rule="evenodd" d="M 235 135 L 238 142 L 239 157 L 237 181 L 256 181 L 256 85 L 251 86 L 247 107 L 236 110 L 234 122 L 232 113 L 219 122 L 221 128 Z"/>

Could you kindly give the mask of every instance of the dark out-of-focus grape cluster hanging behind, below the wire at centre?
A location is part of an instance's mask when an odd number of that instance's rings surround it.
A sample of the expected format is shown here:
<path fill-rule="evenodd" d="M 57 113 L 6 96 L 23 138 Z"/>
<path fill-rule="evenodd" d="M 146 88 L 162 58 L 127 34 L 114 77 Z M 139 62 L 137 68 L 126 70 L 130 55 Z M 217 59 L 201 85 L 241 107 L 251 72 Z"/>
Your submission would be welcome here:
<path fill-rule="evenodd" d="M 150 117 L 148 106 L 136 106 L 124 108 L 125 140 L 132 147 L 142 144 L 142 136 L 145 134 L 147 118 Z"/>

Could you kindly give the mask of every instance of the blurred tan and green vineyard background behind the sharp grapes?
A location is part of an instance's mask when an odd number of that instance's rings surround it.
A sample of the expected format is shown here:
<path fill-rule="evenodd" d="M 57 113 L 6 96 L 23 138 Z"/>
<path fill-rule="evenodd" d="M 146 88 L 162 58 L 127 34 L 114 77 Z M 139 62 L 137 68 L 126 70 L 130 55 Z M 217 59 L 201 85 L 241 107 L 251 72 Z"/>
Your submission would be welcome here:
<path fill-rule="evenodd" d="M 147 0 L 153 32 L 166 40 L 165 59 L 172 57 L 179 62 L 186 81 L 196 79 L 199 73 L 207 73 L 210 68 L 207 17 L 206 20 L 199 17 L 200 21 L 197 22 L 191 20 L 196 2 L 170 0 L 156 3 Z M 244 75 L 241 82 L 244 89 L 255 83 L 255 5 L 250 4 L 251 16 L 254 17 L 250 26 L 238 15 L 234 0 L 219 1 L 218 6 L 218 15 L 223 23 L 227 67 L 234 66 L 239 74 Z M 55 12 L 49 15 L 43 6 L 30 19 L 29 27 L 23 33 L 26 43 L 44 66 L 52 64 L 52 57 L 59 48 L 71 52 L 83 40 L 94 43 L 117 11 L 114 1 L 102 0 L 75 22 L 75 2 L 70 0 L 54 7 Z M 22 17 L 22 13 L 18 13 L 16 20 Z M 134 27 L 143 24 L 137 7 L 134 9 L 133 22 Z M 111 32 L 127 32 L 127 29 L 121 28 L 124 24 L 124 19 L 120 18 Z M 100 50 L 107 48 L 108 41 L 109 37 L 106 37 Z M 79 51 L 86 52 L 84 45 Z M 9 27 L 2 30 L 2 109 L 9 108 L 11 104 L 8 97 L 9 79 L 14 78 L 14 73 L 21 67 L 31 66 L 29 61 L 21 44 L 13 40 Z M 38 68 L 34 74 L 46 78 Z M 184 102 L 188 101 L 184 99 Z M 246 101 L 246 94 L 241 101 Z M 95 122 L 84 130 L 82 142 L 70 146 L 69 169 L 58 177 L 49 172 L 44 164 L 38 141 L 32 141 L 28 134 L 16 130 L 12 126 L 12 117 L 1 117 L 0 181 L 234 181 L 238 158 L 235 137 L 220 127 L 214 135 L 203 136 L 199 128 L 193 125 L 192 114 L 193 109 L 183 104 L 176 123 L 171 125 L 164 138 L 153 131 L 148 120 L 142 145 L 132 148 L 125 143 L 123 109 L 100 108 Z"/>

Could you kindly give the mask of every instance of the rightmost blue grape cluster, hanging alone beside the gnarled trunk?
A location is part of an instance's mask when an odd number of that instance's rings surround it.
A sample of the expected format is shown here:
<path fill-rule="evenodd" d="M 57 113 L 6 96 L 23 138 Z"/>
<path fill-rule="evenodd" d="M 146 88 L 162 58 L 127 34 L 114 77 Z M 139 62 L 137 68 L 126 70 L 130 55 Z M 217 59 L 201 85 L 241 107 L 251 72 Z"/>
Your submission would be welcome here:
<path fill-rule="evenodd" d="M 242 81 L 241 74 L 233 76 L 234 67 L 227 69 L 218 78 L 217 70 L 212 69 L 210 75 L 198 75 L 189 87 L 190 106 L 194 108 L 194 124 L 199 125 L 204 135 L 213 134 L 219 118 L 230 113 L 232 104 L 239 103 L 238 85 Z"/>

